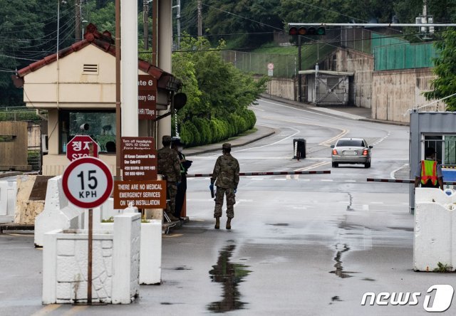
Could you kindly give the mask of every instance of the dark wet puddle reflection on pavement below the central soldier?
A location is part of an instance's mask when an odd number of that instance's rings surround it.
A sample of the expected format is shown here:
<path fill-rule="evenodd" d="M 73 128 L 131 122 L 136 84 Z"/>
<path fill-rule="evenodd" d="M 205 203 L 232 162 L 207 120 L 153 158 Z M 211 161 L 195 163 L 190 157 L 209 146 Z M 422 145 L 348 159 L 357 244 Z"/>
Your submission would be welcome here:
<path fill-rule="evenodd" d="M 220 251 L 217 265 L 212 265 L 209 271 L 213 282 L 222 283 L 223 299 L 219 302 L 212 302 L 207 305 L 207 310 L 212 312 L 229 312 L 230 310 L 241 310 L 246 302 L 241 302 L 239 298 L 238 285 L 251 271 L 247 270 L 248 265 L 231 263 L 230 258 L 236 246 L 229 245 Z"/>

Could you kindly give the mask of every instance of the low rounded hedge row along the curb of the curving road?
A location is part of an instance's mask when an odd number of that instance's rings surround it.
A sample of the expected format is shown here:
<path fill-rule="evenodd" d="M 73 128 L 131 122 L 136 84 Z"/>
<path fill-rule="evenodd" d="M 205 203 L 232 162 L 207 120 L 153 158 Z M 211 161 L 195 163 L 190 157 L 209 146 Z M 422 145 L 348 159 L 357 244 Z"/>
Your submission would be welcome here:
<path fill-rule="evenodd" d="M 242 110 L 212 120 L 193 117 L 182 124 L 180 137 L 189 147 L 212 144 L 251 130 L 256 122 L 257 117 L 252 110 Z"/>

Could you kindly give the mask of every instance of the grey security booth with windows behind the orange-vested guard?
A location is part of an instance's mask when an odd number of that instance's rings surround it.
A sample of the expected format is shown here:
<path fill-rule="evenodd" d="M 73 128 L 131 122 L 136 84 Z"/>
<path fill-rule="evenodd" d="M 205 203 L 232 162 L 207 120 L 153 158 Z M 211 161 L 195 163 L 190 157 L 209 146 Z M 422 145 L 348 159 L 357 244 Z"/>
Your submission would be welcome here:
<path fill-rule="evenodd" d="M 443 181 L 456 181 L 456 112 L 410 113 L 410 179 L 422 159 L 425 148 L 434 147 L 437 162 L 442 164 Z M 415 190 L 410 184 L 410 213 L 415 209 Z"/>

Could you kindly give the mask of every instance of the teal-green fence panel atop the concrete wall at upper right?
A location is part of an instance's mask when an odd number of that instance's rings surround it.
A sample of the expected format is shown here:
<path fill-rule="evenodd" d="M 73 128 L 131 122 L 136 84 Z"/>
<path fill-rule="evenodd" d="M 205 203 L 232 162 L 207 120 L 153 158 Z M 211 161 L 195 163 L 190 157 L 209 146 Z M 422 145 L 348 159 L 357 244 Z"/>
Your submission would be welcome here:
<path fill-rule="evenodd" d="M 432 43 L 410 44 L 400 38 L 372 33 L 375 70 L 396 70 L 434 67 L 437 51 Z"/>

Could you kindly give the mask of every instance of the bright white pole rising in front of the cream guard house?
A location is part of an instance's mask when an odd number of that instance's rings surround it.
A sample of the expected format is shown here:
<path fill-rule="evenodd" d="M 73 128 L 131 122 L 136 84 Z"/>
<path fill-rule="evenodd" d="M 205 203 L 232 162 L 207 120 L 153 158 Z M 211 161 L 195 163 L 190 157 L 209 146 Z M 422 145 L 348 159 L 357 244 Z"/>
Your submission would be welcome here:
<path fill-rule="evenodd" d="M 138 1 L 120 1 L 122 136 L 138 136 Z"/>

